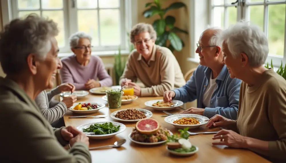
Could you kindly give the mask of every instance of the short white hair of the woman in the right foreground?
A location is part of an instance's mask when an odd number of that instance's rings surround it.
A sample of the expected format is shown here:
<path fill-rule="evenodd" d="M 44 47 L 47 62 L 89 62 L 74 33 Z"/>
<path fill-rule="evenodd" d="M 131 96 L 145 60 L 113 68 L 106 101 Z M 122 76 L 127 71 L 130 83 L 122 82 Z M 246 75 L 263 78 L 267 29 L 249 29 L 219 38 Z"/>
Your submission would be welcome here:
<path fill-rule="evenodd" d="M 223 31 L 220 39 L 227 44 L 233 57 L 245 53 L 251 67 L 265 63 L 269 52 L 268 40 L 257 25 L 240 21 Z"/>

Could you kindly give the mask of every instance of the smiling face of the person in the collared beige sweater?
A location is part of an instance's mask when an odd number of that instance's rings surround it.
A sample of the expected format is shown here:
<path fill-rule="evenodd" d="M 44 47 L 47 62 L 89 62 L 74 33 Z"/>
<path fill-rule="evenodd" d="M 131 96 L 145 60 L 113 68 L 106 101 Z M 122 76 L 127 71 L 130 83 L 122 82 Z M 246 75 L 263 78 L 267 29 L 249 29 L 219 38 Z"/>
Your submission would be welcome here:
<path fill-rule="evenodd" d="M 152 53 L 155 41 L 151 39 L 149 32 L 141 32 L 134 36 L 134 46 L 136 50 L 143 55 L 149 57 Z"/>

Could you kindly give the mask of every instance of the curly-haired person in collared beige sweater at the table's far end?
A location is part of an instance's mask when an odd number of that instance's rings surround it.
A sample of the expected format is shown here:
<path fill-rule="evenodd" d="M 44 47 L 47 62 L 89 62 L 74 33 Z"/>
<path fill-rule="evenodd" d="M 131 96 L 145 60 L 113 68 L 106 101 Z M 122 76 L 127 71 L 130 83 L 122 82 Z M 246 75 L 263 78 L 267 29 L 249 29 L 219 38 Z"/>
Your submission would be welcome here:
<path fill-rule="evenodd" d="M 155 45 L 157 35 L 150 24 L 139 23 L 130 32 L 135 49 L 130 53 L 121 86 L 132 85 L 137 96 L 162 96 L 167 90 L 186 84 L 180 65 L 166 47 Z M 135 82 L 139 79 L 146 88 Z"/>

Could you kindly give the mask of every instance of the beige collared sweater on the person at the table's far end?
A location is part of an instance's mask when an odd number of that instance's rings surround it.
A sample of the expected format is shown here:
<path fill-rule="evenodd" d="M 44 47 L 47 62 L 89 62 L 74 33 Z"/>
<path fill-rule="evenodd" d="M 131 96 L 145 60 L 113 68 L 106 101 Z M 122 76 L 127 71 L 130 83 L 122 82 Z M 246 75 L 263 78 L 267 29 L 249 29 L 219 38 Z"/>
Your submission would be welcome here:
<path fill-rule="evenodd" d="M 133 82 L 139 79 L 147 87 L 141 88 L 141 96 L 162 96 L 165 91 L 186 84 L 179 63 L 173 53 L 168 48 L 159 45 L 154 45 L 148 63 L 134 49 L 128 57 L 119 84 L 125 78 Z"/>

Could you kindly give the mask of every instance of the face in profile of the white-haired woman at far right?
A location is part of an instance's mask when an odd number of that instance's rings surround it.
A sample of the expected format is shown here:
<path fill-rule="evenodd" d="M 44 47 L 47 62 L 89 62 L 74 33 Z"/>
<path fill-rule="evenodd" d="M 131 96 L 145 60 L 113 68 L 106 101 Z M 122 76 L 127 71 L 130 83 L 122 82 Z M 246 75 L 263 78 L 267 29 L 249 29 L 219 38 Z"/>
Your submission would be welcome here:
<path fill-rule="evenodd" d="M 238 78 L 243 74 L 243 63 L 241 62 L 242 59 L 240 56 L 234 58 L 233 55 L 230 53 L 227 43 L 223 42 L 223 63 L 227 66 L 229 70 L 229 74 L 231 78 Z"/>

